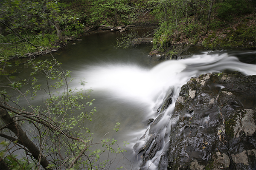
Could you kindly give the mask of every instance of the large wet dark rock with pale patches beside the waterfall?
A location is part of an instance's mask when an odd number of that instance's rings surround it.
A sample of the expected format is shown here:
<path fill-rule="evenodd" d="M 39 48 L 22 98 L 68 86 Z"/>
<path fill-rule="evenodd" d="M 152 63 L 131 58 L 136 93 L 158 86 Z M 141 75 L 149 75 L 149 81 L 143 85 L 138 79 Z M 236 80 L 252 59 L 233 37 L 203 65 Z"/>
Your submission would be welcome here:
<path fill-rule="evenodd" d="M 178 121 L 171 124 L 167 169 L 255 170 L 255 82 L 256 76 L 233 72 L 183 85 L 171 118 Z"/>

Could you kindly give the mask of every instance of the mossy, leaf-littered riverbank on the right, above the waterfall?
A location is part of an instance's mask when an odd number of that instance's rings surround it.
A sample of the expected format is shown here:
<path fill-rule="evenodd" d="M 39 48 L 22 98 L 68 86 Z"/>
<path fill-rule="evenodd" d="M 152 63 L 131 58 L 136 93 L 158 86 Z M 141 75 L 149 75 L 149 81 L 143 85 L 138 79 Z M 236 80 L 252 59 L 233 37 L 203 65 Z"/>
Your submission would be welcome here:
<path fill-rule="evenodd" d="M 168 36 L 170 32 L 166 32 L 155 39 L 150 55 L 164 59 L 178 59 L 190 47 L 201 50 L 256 49 L 255 14 L 235 17 L 233 24 L 225 23 L 216 28 L 207 29 L 206 25 L 198 24 L 196 31 L 190 30 L 189 34 L 185 29 L 185 23 L 181 28 L 183 30 L 180 30 L 178 38 L 175 37 L 175 33 Z"/>

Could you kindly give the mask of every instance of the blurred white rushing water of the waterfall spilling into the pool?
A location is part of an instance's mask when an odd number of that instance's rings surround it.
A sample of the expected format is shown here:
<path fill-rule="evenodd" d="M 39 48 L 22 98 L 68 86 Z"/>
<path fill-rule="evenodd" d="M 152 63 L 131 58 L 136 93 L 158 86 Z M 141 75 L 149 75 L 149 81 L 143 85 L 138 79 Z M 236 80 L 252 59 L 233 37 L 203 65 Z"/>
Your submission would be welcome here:
<path fill-rule="evenodd" d="M 255 52 L 251 53 L 255 54 Z M 90 65 L 86 66 L 85 71 L 81 71 L 78 76 L 86 78 L 85 88 L 87 89 L 91 88 L 93 91 L 107 93 L 111 99 L 131 102 L 134 105 L 145 105 L 150 111 L 145 115 L 145 119 L 155 119 L 158 116 L 154 108 L 159 108 L 167 91 L 172 87 L 174 89 L 173 102 L 164 111 L 163 117 L 154 127 L 156 132 L 161 130 L 159 135 L 163 137 L 169 136 L 171 124 L 177 123 L 178 118 L 172 120 L 170 118 L 181 86 L 188 82 L 191 77 L 221 72 L 226 69 L 240 71 L 244 75 L 256 74 L 255 65 L 242 63 L 238 58 L 227 53 L 207 51 L 188 59 L 161 62 L 151 69 L 129 64 Z M 128 141 L 131 148 L 134 144 L 138 145 L 137 150 L 143 147 L 150 137 L 148 131 L 148 127 L 145 127 L 131 132 L 131 139 Z M 145 133 L 146 136 L 140 139 Z M 169 147 L 168 142 L 169 139 L 166 138 L 163 147 L 145 166 L 152 170 L 157 169 L 161 153 Z M 138 162 L 138 166 L 139 164 L 140 162 Z"/>

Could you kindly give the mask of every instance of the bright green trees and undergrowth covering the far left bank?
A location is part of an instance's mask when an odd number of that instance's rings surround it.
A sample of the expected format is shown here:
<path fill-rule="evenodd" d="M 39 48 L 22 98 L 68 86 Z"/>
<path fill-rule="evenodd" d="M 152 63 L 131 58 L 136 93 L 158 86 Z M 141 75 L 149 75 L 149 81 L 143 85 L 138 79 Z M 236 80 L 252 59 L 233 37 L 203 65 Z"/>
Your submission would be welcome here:
<path fill-rule="evenodd" d="M 83 18 L 83 15 L 64 10 L 60 5 L 65 6 L 64 3 L 59 4 L 58 0 L 1 2 L 0 19 L 7 25 L 1 23 L 1 59 L 46 50 L 41 47 L 60 48 L 66 44 L 63 36 L 76 37 L 83 34 L 84 23 L 79 18 Z M 33 45 L 27 43 L 27 40 Z"/>

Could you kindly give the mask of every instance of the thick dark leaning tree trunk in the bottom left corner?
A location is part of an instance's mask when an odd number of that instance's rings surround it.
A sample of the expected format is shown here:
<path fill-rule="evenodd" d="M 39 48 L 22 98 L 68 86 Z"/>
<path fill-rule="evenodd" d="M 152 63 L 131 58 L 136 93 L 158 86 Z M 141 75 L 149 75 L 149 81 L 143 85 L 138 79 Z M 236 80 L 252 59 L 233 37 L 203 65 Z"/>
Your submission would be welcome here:
<path fill-rule="evenodd" d="M 11 130 L 15 135 L 17 136 L 17 143 L 22 144 L 24 147 L 26 147 L 30 153 L 32 153 L 32 156 L 38 160 L 38 162 L 44 167 L 46 170 L 53 170 L 51 167 L 47 168 L 49 165 L 49 162 L 45 158 L 45 156 L 42 155 L 41 151 L 38 149 L 38 147 L 28 138 L 26 133 L 21 129 L 20 125 L 18 125 L 12 117 L 9 115 L 9 113 L 3 109 L 0 108 L 0 118 L 3 120 L 3 122 L 6 124 L 6 128 Z M 8 138 L 7 138 L 8 139 Z"/>

